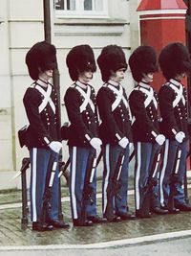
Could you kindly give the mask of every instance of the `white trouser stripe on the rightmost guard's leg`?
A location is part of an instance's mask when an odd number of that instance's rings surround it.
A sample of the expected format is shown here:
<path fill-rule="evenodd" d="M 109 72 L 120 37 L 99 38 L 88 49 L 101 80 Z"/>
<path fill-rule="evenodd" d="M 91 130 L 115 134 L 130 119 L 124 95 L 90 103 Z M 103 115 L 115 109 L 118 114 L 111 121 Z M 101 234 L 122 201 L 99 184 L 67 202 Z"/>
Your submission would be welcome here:
<path fill-rule="evenodd" d="M 160 178 L 159 178 L 159 195 L 160 195 L 161 206 L 164 206 L 164 194 L 163 194 L 162 183 L 163 183 L 163 179 L 164 179 L 164 175 L 165 175 L 165 171 L 166 171 L 168 151 L 169 151 L 169 140 L 167 139 L 165 141 L 163 164 L 162 164 L 161 174 L 160 174 Z"/>

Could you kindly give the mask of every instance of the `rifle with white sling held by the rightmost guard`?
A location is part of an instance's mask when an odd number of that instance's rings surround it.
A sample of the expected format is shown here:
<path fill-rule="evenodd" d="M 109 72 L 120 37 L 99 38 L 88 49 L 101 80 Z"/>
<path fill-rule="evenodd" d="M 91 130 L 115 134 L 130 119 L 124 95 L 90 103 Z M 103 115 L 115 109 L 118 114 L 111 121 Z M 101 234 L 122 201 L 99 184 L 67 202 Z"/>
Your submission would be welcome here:
<path fill-rule="evenodd" d="M 179 172 L 179 167 L 180 167 L 180 157 L 181 157 L 181 150 L 178 149 L 177 151 L 177 157 L 175 159 L 175 164 L 174 164 L 174 169 L 173 173 L 170 176 L 170 194 L 168 197 L 168 211 L 172 213 L 175 208 L 174 204 L 174 196 L 176 195 L 176 184 L 178 182 L 178 172 Z"/>

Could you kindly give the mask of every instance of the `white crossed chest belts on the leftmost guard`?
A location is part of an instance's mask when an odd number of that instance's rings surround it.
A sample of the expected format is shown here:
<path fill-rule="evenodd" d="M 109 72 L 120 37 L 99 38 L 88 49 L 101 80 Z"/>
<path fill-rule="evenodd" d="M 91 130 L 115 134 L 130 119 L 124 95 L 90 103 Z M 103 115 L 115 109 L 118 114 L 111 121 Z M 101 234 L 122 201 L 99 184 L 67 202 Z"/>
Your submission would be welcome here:
<path fill-rule="evenodd" d="M 44 96 L 44 99 L 42 100 L 41 105 L 38 106 L 39 113 L 43 111 L 43 109 L 48 105 L 48 103 L 51 105 L 53 109 L 53 113 L 55 113 L 55 105 L 53 104 L 53 101 L 51 99 L 52 85 L 48 84 L 47 91 L 43 90 L 43 88 L 40 87 L 39 85 L 36 85 L 35 89 L 37 89 Z"/>

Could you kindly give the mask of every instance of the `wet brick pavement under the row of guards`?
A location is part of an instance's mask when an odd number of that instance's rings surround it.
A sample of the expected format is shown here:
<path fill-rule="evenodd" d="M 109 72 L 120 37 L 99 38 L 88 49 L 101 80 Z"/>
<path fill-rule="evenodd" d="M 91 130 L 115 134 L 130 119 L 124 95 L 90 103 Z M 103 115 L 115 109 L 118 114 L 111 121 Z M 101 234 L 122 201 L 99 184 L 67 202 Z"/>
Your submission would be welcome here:
<path fill-rule="evenodd" d="M 71 221 L 69 199 L 66 197 L 68 196 L 67 188 L 62 191 L 62 196 L 64 196 L 62 205 L 64 219 L 70 222 L 71 227 L 68 230 L 57 229 L 51 232 L 36 232 L 32 231 L 30 221 L 26 229 L 21 229 L 20 191 L 12 191 L 9 194 L 0 192 L 0 250 L 4 246 L 19 245 L 65 244 L 70 246 L 75 244 L 80 246 L 131 239 L 136 241 L 138 238 L 146 236 L 152 238 L 152 236 L 155 237 L 159 234 L 166 234 L 166 238 L 168 238 L 168 234 L 183 230 L 187 230 L 187 235 L 191 235 L 191 213 L 167 216 L 153 215 L 151 219 L 145 220 L 102 223 L 91 227 L 74 227 Z M 130 210 L 134 210 L 133 195 L 129 196 L 129 206 Z M 100 197 L 97 198 L 97 209 L 98 214 L 101 215 Z"/>

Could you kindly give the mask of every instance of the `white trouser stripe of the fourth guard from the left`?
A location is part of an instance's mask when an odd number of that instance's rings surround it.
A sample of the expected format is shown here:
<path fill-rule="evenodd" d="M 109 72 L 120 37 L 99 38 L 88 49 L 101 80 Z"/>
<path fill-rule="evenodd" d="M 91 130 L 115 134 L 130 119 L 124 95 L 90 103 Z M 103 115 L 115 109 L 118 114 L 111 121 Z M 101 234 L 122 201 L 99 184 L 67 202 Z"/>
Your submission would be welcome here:
<path fill-rule="evenodd" d="M 140 208 L 140 195 L 139 195 L 139 177 L 140 177 L 140 164 L 141 164 L 141 143 L 138 142 L 138 167 L 136 172 L 136 209 Z"/>

